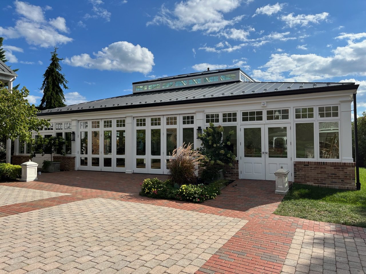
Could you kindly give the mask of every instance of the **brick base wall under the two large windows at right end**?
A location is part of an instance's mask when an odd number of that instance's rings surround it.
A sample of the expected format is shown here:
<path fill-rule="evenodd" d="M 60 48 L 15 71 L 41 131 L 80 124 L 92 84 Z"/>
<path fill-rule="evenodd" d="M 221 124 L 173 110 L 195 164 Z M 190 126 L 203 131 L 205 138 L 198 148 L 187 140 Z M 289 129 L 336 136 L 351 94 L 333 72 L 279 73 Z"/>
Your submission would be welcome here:
<path fill-rule="evenodd" d="M 355 190 L 355 163 L 294 161 L 295 183 Z"/>

